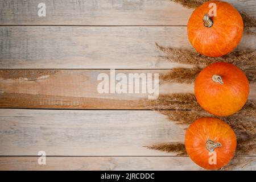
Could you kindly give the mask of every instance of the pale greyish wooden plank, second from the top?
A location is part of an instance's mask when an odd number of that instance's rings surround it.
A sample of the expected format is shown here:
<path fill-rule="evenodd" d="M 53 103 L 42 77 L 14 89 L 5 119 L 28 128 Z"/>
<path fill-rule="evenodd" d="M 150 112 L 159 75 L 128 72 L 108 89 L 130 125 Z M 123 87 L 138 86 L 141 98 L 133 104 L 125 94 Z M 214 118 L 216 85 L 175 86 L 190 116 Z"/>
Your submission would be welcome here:
<path fill-rule="evenodd" d="M 159 56 L 165 47 L 193 49 L 187 27 L 0 27 L 2 69 L 169 69 L 193 65 Z M 256 36 L 245 34 L 237 49 L 255 49 Z"/>

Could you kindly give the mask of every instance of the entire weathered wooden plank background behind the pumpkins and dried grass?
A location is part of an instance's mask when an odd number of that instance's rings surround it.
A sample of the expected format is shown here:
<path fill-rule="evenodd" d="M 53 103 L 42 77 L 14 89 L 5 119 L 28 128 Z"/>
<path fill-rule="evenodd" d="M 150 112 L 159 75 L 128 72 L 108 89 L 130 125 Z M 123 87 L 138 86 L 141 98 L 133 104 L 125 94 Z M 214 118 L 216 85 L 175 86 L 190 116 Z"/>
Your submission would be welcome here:
<path fill-rule="evenodd" d="M 145 147 L 184 142 L 187 127 L 148 110 L 147 94 L 97 92 L 98 74 L 109 69 L 164 75 L 195 67 L 164 60 L 155 47 L 193 50 L 193 9 L 168 0 L 46 0 L 47 16 L 38 17 L 40 2 L 0 0 L 0 169 L 202 170 L 188 156 Z M 255 1 L 228 2 L 256 18 Z M 236 49 L 255 42 L 245 33 Z M 159 86 L 172 93 L 193 93 L 193 84 Z M 38 165 L 41 150 L 46 165 Z M 232 163 L 240 166 L 224 169 L 255 170 L 256 154 Z"/>

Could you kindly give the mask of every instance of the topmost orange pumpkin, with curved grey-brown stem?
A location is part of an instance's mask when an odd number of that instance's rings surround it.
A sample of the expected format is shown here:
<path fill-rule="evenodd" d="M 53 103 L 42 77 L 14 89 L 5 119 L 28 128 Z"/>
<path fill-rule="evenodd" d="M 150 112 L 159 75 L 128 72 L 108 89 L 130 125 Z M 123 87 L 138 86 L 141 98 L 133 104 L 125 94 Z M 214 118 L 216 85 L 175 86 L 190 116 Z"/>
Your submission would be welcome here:
<path fill-rule="evenodd" d="M 216 16 L 212 16 L 214 11 Z M 218 57 L 237 47 L 243 34 L 243 20 L 229 3 L 209 1 L 193 11 L 187 28 L 189 42 L 197 52 Z"/>

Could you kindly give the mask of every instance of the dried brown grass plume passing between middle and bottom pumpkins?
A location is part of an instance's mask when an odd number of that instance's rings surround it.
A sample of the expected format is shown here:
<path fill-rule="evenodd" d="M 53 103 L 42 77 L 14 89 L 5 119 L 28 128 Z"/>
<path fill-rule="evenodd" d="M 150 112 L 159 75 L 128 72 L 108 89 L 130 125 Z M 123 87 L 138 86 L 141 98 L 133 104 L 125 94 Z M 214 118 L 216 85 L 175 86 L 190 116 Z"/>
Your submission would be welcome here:
<path fill-rule="evenodd" d="M 175 101 L 172 99 L 172 97 L 177 97 Z M 164 96 L 163 98 L 159 98 L 159 102 L 162 103 L 162 99 L 166 98 L 167 96 Z M 185 97 L 189 97 L 189 100 L 185 100 Z M 168 98 L 171 98 L 171 101 L 173 104 L 176 105 L 176 107 L 182 107 L 183 110 L 160 110 L 162 108 L 161 105 L 156 106 L 156 109 L 159 113 L 167 115 L 170 121 L 175 121 L 179 124 L 191 124 L 193 121 L 195 121 L 198 118 L 201 117 L 215 117 L 218 119 L 221 119 L 222 121 L 225 121 L 232 127 L 235 131 L 241 133 L 247 133 L 249 135 L 255 135 L 256 134 L 256 104 L 255 101 L 247 101 L 245 106 L 236 114 L 231 115 L 229 117 L 216 117 L 214 115 L 211 115 L 201 109 L 199 104 L 196 102 L 196 98 L 193 97 L 193 94 L 175 94 L 172 96 L 169 96 Z M 187 102 L 187 103 L 185 103 Z M 178 106 L 180 103 L 182 103 L 182 106 Z M 187 107 L 189 105 L 189 107 Z M 164 102 L 164 108 L 171 107 L 167 103 Z"/>

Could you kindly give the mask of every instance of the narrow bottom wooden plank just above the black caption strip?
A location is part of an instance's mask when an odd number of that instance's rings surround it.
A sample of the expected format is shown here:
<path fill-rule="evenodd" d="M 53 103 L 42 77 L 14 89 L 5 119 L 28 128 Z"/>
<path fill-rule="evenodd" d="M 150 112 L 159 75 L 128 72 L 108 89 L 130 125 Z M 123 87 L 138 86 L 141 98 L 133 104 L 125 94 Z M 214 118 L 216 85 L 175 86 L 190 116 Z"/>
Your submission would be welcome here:
<path fill-rule="evenodd" d="M 237 165 L 238 164 L 238 165 Z M 256 157 L 234 157 L 226 170 L 255 170 Z M 0 170 L 204 170 L 187 156 L 176 157 L 0 157 Z"/>

